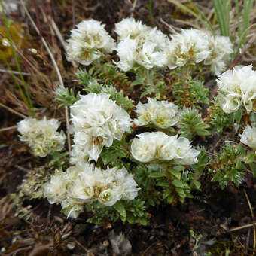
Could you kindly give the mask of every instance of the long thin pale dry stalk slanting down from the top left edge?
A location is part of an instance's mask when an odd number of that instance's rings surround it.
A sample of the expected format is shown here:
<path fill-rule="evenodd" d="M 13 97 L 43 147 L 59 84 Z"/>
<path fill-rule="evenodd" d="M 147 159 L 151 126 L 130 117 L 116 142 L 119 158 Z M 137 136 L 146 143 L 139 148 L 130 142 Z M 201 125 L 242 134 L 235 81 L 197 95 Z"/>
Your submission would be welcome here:
<path fill-rule="evenodd" d="M 40 35 L 40 31 L 38 30 L 38 27 L 35 25 L 35 22 L 32 19 L 32 17 L 30 16 L 29 11 L 26 8 L 26 5 L 24 4 L 23 0 L 20 0 L 20 2 L 23 5 L 24 11 L 26 12 L 26 15 L 29 17 L 29 20 L 31 21 L 32 26 L 34 27 L 35 31 L 38 33 L 38 35 Z M 59 78 L 59 84 L 60 84 L 61 87 L 64 87 L 62 76 L 60 74 L 59 67 L 57 66 L 57 63 L 56 63 L 56 61 L 53 57 L 53 53 L 51 53 L 50 48 L 48 47 L 48 44 L 44 40 L 43 37 L 41 37 L 41 41 L 43 42 L 44 47 L 46 48 L 47 52 L 50 55 L 50 59 L 53 62 L 53 66 L 54 66 L 54 68 L 56 70 L 56 73 L 58 75 L 58 78 Z M 66 115 L 66 126 L 67 126 L 67 139 L 68 139 L 68 146 L 69 146 L 69 152 L 70 152 L 71 151 L 71 142 L 70 142 L 70 133 L 69 133 L 69 110 L 68 110 L 68 107 L 65 107 L 65 115 Z"/>

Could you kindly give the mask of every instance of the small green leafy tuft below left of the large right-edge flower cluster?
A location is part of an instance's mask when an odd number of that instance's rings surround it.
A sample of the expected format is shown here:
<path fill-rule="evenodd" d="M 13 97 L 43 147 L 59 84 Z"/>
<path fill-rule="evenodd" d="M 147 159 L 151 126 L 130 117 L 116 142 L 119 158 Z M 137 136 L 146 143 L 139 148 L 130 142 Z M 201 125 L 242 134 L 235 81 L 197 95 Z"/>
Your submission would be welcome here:
<path fill-rule="evenodd" d="M 223 133 L 224 128 L 229 128 L 235 122 L 233 113 L 225 113 L 218 104 L 218 100 L 210 106 L 207 120 L 209 120 L 211 130 L 218 133 Z"/>

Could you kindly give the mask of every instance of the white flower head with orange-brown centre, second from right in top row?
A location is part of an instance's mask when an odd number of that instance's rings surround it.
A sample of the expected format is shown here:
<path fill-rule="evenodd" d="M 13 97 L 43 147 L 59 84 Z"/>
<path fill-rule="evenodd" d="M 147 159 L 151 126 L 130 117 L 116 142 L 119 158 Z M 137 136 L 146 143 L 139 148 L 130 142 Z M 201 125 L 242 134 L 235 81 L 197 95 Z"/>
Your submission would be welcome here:
<path fill-rule="evenodd" d="M 181 29 L 180 34 L 170 35 L 172 40 L 167 52 L 169 69 L 184 66 L 187 63 L 199 63 L 210 55 L 209 38 L 205 32 L 197 29 Z"/>

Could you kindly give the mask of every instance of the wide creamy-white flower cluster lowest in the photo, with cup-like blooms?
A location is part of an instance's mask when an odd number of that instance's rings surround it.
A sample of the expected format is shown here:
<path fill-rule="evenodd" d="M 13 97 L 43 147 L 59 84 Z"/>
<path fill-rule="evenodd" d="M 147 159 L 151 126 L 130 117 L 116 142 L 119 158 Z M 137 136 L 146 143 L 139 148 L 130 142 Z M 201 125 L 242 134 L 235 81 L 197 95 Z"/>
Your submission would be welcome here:
<path fill-rule="evenodd" d="M 84 212 L 85 203 L 98 200 L 102 205 L 113 206 L 118 200 L 133 200 L 138 190 L 133 175 L 124 167 L 102 170 L 83 163 L 66 172 L 56 171 L 44 184 L 44 197 L 50 203 L 61 203 L 62 212 L 77 218 Z"/>

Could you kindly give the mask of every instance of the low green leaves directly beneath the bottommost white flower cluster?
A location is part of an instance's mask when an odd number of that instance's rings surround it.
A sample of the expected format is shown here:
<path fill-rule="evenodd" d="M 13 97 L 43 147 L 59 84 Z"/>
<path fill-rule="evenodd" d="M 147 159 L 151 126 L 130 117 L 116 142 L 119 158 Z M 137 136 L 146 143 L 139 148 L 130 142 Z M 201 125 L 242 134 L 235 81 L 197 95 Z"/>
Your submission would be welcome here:
<path fill-rule="evenodd" d="M 93 211 L 92 218 L 87 219 L 87 222 L 94 224 L 107 224 L 109 221 L 123 221 L 123 224 L 139 223 L 142 225 L 148 224 L 148 213 L 145 212 L 144 201 L 139 198 L 132 201 L 118 201 L 114 206 L 102 206 L 99 203 L 87 205 L 87 210 Z"/>

